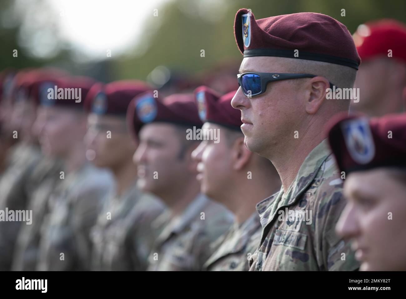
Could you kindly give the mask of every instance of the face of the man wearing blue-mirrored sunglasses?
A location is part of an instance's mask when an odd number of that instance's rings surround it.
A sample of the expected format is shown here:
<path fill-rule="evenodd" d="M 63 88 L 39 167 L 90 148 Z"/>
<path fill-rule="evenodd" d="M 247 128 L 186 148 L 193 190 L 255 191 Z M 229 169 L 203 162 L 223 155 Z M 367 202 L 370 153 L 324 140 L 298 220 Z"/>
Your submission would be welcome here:
<path fill-rule="evenodd" d="M 246 57 L 242 60 L 240 73 L 285 73 L 282 62 L 280 57 Z M 241 131 L 248 150 L 266 155 L 274 144 L 291 143 L 293 128 L 298 127 L 305 111 L 295 86 L 292 80 L 268 83 L 265 93 L 251 98 L 244 95 L 241 87 L 238 88 L 231 105 L 241 110 Z"/>

